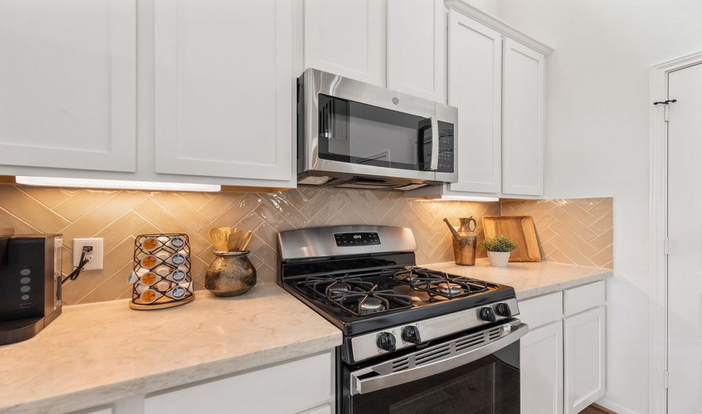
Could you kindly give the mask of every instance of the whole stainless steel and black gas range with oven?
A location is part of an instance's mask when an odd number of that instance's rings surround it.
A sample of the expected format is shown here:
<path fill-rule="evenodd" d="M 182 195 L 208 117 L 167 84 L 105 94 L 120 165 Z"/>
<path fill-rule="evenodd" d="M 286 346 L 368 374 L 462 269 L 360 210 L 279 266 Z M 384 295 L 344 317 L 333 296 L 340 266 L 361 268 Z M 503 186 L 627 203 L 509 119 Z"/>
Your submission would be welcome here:
<path fill-rule="evenodd" d="M 515 291 L 416 267 L 411 229 L 279 234 L 279 283 L 343 330 L 339 414 L 519 413 Z"/>

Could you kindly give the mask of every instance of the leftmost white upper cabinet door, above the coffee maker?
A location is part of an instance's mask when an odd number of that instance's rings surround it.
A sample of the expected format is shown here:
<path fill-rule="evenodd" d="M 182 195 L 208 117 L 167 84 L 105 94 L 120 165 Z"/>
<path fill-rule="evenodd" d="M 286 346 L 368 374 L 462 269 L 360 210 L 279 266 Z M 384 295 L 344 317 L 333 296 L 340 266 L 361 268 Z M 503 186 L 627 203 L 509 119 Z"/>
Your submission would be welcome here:
<path fill-rule="evenodd" d="M 135 171 L 135 0 L 0 1 L 0 174 Z"/>

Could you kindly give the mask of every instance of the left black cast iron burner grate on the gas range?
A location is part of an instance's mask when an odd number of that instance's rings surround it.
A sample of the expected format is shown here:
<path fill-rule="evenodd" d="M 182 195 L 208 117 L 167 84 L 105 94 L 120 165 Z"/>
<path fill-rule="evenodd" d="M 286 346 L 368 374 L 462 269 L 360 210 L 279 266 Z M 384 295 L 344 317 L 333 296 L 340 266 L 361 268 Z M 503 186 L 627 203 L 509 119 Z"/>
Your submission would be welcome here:
<path fill-rule="evenodd" d="M 329 305 L 361 316 L 412 307 L 412 298 L 392 290 L 378 291 L 378 285 L 359 277 L 311 276 L 303 282 Z"/>

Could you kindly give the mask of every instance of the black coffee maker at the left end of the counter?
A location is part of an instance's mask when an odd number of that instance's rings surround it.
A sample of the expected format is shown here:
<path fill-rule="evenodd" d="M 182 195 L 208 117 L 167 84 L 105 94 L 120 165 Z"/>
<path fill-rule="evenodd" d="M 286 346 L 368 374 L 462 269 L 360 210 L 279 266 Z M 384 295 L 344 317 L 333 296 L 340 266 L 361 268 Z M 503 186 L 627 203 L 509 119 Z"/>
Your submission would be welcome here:
<path fill-rule="evenodd" d="M 61 314 L 61 234 L 0 234 L 0 345 L 32 338 Z"/>

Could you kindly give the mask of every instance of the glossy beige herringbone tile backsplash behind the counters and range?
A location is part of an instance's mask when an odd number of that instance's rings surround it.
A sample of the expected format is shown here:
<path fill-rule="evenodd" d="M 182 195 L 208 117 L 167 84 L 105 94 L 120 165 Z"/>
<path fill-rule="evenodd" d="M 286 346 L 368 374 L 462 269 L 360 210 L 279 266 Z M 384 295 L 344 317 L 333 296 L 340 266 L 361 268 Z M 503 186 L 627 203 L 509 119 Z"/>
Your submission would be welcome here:
<path fill-rule="evenodd" d="M 126 276 L 132 268 L 133 243 L 138 234 L 187 233 L 192 246 L 192 276 L 196 288 L 204 288 L 204 273 L 213 258 L 208 230 L 223 226 L 253 230 L 250 258 L 263 283 L 275 281 L 276 236 L 282 230 L 346 224 L 410 227 L 417 240 L 417 262 L 428 264 L 453 260 L 451 235 L 443 218 L 458 225 L 459 217 L 472 215 L 478 220 L 479 239 L 482 239 L 479 219 L 505 211 L 510 215 L 523 212 L 534 215 L 546 260 L 611 266 L 611 199 L 588 200 L 501 204 L 417 201 L 404 199 L 399 192 L 313 187 L 263 194 L 0 185 L 0 228 L 13 227 L 17 233 L 62 233 L 64 274 L 72 270 L 71 248 L 75 237 L 104 238 L 105 268 L 85 272 L 64 286 L 65 303 L 77 304 L 129 297 L 131 288 L 126 284 Z M 544 229 L 539 229 L 541 225 Z M 574 234 L 580 239 L 574 239 Z M 570 247 L 564 247 L 561 244 L 564 242 Z M 604 245 L 609 246 L 609 256 L 607 248 L 598 250 Z M 479 256 L 484 256 L 484 252 L 479 251 Z"/>

